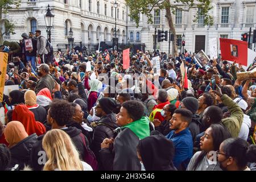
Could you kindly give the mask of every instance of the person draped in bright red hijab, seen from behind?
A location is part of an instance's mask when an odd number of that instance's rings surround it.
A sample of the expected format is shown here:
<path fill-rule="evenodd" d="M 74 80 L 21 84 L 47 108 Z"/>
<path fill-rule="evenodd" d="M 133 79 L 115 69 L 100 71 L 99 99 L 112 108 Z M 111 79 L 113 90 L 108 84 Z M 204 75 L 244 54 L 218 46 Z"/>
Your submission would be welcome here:
<path fill-rule="evenodd" d="M 16 105 L 14 107 L 13 120 L 21 122 L 28 135 L 36 133 L 40 136 L 46 133 L 46 127 L 35 120 L 34 113 L 28 110 L 26 105 Z"/>

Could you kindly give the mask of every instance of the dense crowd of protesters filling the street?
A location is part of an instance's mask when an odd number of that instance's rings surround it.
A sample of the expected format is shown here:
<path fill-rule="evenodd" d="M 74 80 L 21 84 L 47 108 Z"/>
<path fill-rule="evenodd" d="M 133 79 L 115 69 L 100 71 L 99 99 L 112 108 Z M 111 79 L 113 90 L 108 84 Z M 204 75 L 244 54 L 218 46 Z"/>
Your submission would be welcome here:
<path fill-rule="evenodd" d="M 237 78 L 256 59 L 138 50 L 124 69 L 122 51 L 53 52 L 35 35 L 0 47 L 19 86 L 1 103 L 0 170 L 256 170 L 256 77 Z"/>

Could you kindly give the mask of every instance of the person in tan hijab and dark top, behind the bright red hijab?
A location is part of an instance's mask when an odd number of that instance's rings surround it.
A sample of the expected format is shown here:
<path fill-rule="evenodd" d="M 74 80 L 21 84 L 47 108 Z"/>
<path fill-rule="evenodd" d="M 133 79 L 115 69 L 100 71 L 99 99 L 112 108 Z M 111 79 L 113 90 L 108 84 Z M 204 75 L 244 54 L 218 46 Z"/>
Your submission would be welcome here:
<path fill-rule="evenodd" d="M 44 123 L 47 118 L 46 109 L 36 103 L 36 94 L 32 90 L 28 90 L 24 95 L 27 108 L 35 115 L 35 120 Z"/>

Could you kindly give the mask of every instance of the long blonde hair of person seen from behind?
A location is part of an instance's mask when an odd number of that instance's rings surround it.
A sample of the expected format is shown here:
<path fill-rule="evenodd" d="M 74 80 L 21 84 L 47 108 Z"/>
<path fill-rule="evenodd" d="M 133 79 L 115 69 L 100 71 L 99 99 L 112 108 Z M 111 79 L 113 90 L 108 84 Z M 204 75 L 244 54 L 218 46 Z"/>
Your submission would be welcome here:
<path fill-rule="evenodd" d="M 64 131 L 59 129 L 48 131 L 44 135 L 42 144 L 48 158 L 44 171 L 53 171 L 56 168 L 60 171 L 83 171 L 79 152 Z"/>

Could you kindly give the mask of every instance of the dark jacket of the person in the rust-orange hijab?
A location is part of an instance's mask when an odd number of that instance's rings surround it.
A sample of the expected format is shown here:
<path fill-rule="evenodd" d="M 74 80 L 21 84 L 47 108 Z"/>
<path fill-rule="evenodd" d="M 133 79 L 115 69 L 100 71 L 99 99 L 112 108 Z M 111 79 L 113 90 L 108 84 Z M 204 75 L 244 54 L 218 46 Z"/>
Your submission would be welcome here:
<path fill-rule="evenodd" d="M 9 167 L 13 168 L 16 164 L 19 165 L 19 169 L 23 169 L 24 165 L 30 163 L 30 152 L 31 148 L 36 142 L 38 135 L 32 134 L 27 138 L 21 140 L 15 146 L 10 148 L 11 152 L 11 162 Z"/>

